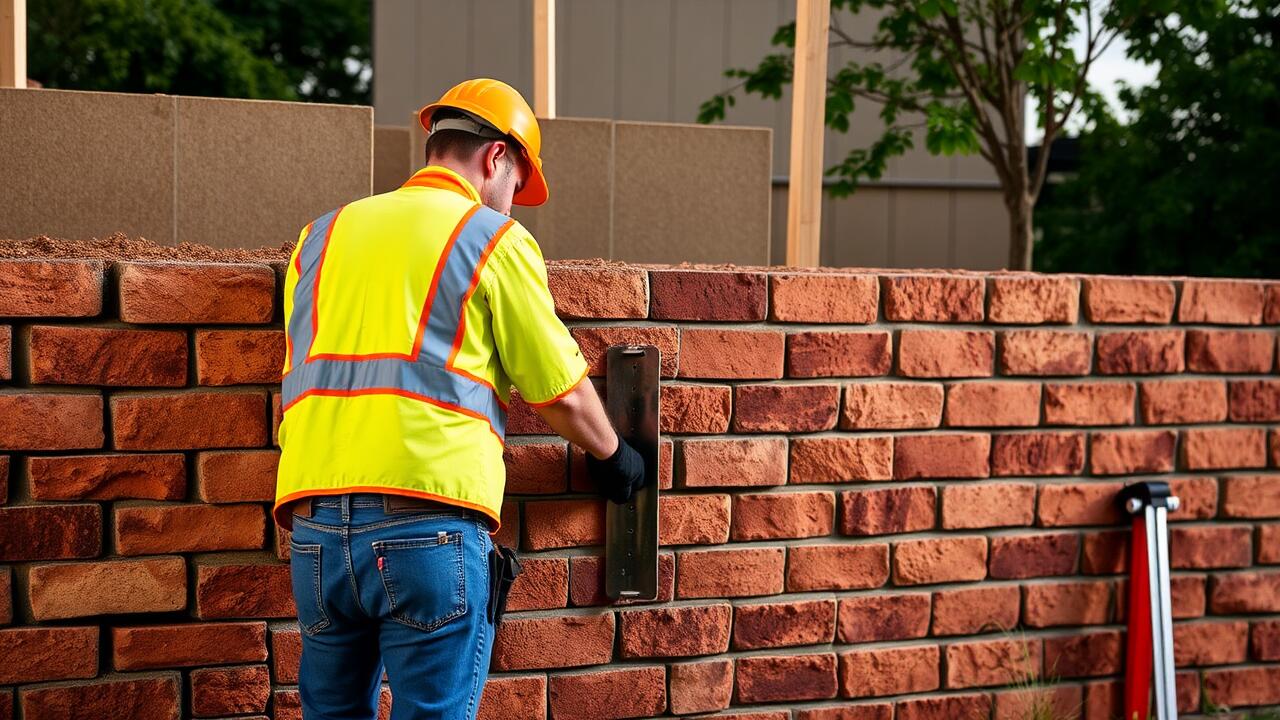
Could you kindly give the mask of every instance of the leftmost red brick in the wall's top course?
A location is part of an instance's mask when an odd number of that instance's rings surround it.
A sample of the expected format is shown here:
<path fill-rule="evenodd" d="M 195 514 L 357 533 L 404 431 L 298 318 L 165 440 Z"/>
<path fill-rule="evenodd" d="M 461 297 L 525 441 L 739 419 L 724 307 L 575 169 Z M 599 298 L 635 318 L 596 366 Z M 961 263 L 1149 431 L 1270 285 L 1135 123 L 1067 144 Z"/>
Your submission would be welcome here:
<path fill-rule="evenodd" d="M 100 260 L 0 260 L 0 318 L 92 318 L 100 313 Z"/>

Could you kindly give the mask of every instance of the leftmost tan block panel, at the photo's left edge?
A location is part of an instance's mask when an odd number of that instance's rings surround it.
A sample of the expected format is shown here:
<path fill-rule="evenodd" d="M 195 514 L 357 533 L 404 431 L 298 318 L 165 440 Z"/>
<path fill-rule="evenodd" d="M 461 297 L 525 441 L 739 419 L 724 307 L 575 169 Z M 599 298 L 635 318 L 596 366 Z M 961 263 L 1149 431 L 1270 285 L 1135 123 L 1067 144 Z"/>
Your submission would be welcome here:
<path fill-rule="evenodd" d="M 174 99 L 0 90 L 0 237 L 173 242 Z"/>

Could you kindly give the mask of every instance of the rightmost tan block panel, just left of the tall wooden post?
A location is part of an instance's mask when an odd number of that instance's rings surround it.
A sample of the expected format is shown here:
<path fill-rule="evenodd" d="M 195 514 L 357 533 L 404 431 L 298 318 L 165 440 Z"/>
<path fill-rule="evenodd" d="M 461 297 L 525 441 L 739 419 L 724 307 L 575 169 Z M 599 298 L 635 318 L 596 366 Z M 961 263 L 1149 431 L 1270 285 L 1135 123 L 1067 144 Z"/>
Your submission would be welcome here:
<path fill-rule="evenodd" d="M 613 258 L 768 264 L 772 131 L 614 126 Z"/>

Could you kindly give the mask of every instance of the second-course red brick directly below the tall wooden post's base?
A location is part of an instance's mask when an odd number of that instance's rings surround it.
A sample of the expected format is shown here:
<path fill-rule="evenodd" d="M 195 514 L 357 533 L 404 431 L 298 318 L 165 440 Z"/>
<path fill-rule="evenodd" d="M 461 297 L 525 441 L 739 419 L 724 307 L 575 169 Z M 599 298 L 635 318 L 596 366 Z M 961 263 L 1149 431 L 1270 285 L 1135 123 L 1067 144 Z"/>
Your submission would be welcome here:
<path fill-rule="evenodd" d="M 788 378 L 886 375 L 893 365 L 887 331 L 803 332 L 787 336 Z"/>

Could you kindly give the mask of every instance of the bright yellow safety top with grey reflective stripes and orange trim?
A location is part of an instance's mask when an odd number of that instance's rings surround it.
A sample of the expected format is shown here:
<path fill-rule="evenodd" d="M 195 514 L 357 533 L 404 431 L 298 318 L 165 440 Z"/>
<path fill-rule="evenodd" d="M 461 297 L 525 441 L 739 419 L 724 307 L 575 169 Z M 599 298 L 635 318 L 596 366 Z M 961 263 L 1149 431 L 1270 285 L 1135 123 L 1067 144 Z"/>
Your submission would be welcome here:
<path fill-rule="evenodd" d="M 500 527 L 509 387 L 586 377 L 532 236 L 440 167 L 303 228 L 284 281 L 275 521 L 306 496 L 380 492 Z"/>

